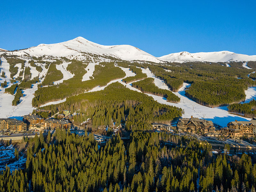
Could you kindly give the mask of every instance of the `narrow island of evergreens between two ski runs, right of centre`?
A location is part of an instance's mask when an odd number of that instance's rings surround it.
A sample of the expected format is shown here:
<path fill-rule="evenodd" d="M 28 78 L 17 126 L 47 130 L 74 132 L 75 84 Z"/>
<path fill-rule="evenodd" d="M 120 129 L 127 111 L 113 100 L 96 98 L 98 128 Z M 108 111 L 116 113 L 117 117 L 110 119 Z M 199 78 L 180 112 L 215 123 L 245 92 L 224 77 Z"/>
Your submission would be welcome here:
<path fill-rule="evenodd" d="M 132 83 L 132 87 L 139 89 L 143 93 L 149 93 L 161 97 L 165 97 L 167 101 L 178 103 L 180 98 L 169 90 L 158 88 L 153 78 L 146 78 L 141 81 Z"/>

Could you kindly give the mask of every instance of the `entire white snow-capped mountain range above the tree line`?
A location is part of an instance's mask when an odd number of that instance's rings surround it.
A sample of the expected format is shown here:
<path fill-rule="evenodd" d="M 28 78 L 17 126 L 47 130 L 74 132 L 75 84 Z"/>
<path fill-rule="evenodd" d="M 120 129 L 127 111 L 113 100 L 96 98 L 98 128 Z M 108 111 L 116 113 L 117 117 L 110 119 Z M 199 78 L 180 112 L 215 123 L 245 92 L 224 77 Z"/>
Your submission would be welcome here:
<path fill-rule="evenodd" d="M 0 49 L 1 51 L 1 49 Z M 6 50 L 2 50 L 6 51 Z M 155 57 L 132 45 L 100 45 L 93 43 L 83 37 L 56 43 L 39 44 L 28 49 L 14 51 L 15 55 L 41 56 L 51 55 L 53 57 L 82 58 L 84 53 L 99 55 L 103 57 L 114 57 L 121 60 L 142 60 L 151 62 L 186 62 L 186 61 L 209 61 L 209 62 L 230 62 L 230 61 L 256 61 L 256 55 L 237 54 L 229 51 L 220 52 L 179 52 Z"/>

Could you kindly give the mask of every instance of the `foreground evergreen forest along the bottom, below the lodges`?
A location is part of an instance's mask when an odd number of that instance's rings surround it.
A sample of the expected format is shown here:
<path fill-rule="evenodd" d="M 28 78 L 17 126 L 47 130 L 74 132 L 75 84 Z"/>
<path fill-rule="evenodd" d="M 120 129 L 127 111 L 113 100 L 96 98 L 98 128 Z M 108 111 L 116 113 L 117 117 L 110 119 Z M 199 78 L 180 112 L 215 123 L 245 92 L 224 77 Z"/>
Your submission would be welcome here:
<path fill-rule="evenodd" d="M 117 135 L 98 148 L 92 134 L 57 129 L 52 137 L 49 132 L 28 140 L 26 168 L 1 171 L 0 190 L 254 192 L 250 156 L 212 156 L 211 148 L 164 132 L 132 132 L 127 142 Z"/>

